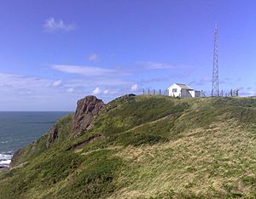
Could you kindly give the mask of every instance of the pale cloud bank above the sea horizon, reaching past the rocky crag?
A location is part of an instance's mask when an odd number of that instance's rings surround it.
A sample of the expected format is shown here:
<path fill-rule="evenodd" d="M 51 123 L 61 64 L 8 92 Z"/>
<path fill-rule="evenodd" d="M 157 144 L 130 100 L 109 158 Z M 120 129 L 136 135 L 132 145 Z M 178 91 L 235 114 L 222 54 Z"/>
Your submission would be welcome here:
<path fill-rule="evenodd" d="M 51 78 L 0 72 L 0 111 L 74 110 L 77 100 L 91 94 L 94 88 L 94 94 L 102 94 L 102 99 L 108 101 L 126 94 L 132 85 L 113 77 L 67 78 L 57 87 L 54 82 L 57 81 Z"/>

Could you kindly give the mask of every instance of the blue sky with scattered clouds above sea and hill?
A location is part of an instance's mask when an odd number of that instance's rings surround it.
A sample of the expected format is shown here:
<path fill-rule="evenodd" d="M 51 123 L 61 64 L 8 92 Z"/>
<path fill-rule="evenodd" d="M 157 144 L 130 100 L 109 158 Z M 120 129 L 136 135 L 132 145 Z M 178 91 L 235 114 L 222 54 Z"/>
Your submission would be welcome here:
<path fill-rule="evenodd" d="M 73 111 L 142 88 L 256 95 L 256 1 L 22 0 L 0 6 L 0 111 Z"/>

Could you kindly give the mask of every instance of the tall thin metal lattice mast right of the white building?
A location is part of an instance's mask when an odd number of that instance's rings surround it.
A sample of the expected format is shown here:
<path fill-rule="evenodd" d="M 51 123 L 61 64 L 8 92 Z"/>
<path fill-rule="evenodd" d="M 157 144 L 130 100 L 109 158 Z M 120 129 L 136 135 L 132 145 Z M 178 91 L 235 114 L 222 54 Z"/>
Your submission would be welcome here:
<path fill-rule="evenodd" d="M 212 97 L 218 97 L 218 28 L 214 31 L 213 71 L 212 71 Z"/>

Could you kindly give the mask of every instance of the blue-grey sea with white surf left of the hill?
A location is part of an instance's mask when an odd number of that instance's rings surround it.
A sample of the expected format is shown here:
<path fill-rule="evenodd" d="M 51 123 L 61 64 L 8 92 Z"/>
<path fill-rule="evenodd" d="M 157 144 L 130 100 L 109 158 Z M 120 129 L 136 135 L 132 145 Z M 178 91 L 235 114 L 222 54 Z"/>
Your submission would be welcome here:
<path fill-rule="evenodd" d="M 37 140 L 69 112 L 1 112 L 0 111 L 0 168 L 9 167 L 14 152 Z"/>

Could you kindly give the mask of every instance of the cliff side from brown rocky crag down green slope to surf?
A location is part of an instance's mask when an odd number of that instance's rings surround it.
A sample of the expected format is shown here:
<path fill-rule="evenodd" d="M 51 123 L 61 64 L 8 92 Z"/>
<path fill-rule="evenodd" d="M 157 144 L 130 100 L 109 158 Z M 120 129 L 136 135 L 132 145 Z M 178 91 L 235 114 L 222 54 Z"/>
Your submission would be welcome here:
<path fill-rule="evenodd" d="M 90 95 L 79 99 L 74 115 L 62 117 L 41 139 L 15 152 L 10 164 L 11 168 L 22 162 L 27 162 L 57 143 L 68 138 L 72 139 L 81 132 L 92 128 L 94 118 L 102 111 L 103 107 L 102 99 L 97 99 L 95 96 Z"/>

